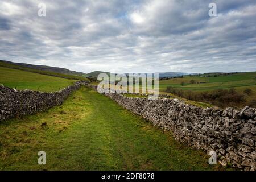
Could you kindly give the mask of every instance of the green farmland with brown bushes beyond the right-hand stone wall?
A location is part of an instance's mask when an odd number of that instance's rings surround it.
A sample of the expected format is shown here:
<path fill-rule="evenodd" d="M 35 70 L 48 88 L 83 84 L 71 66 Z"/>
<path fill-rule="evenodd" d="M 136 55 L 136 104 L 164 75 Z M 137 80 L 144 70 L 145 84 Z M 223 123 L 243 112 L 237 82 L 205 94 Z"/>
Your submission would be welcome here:
<path fill-rule="evenodd" d="M 246 105 L 256 107 L 256 72 L 204 76 L 206 75 L 160 80 L 159 90 L 222 108 L 242 108 Z M 251 90 L 251 93 L 246 94 L 246 89 Z"/>

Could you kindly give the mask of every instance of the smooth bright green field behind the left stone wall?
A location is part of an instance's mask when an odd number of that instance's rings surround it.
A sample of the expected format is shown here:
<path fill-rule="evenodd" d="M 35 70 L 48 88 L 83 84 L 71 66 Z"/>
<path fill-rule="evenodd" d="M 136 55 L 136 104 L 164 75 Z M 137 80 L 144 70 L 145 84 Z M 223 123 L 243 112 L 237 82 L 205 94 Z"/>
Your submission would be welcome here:
<path fill-rule="evenodd" d="M 53 92 L 72 85 L 75 81 L 77 80 L 0 67 L 0 84 L 18 90 L 30 89 Z"/>

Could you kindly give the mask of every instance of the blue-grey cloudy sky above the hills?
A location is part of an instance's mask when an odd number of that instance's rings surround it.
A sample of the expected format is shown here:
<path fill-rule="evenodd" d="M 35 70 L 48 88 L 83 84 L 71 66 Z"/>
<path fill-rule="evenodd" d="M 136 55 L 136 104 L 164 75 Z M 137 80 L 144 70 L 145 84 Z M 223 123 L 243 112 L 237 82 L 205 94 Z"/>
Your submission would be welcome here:
<path fill-rule="evenodd" d="M 0 59 L 85 73 L 256 71 L 256 1 L 1 0 Z"/>

